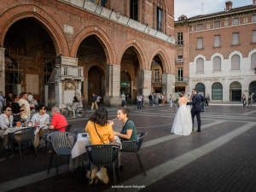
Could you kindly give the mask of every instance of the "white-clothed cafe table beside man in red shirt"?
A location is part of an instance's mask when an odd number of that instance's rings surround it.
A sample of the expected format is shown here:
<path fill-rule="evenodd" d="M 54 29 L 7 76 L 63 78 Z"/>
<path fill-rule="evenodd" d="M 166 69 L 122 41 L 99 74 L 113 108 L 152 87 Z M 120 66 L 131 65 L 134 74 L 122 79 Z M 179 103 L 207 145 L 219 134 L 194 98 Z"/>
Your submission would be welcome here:
<path fill-rule="evenodd" d="M 3 133 L 3 143 L 2 143 L 2 148 L 5 148 L 8 143 L 9 143 L 9 140 L 8 140 L 8 133 L 11 133 L 11 132 L 15 132 L 15 138 L 16 140 L 20 140 L 21 139 L 21 131 L 19 130 L 22 130 L 22 129 L 26 129 L 28 128 L 27 126 L 26 127 L 23 127 L 23 126 L 20 126 L 20 127 L 9 127 L 4 133 Z M 39 143 L 40 143 L 40 140 L 39 140 L 39 137 L 42 137 L 44 135 L 44 133 L 46 133 L 48 130 L 48 126 L 47 125 L 39 125 L 37 127 L 35 127 L 35 137 L 34 137 L 34 145 L 35 147 L 37 148 Z"/>

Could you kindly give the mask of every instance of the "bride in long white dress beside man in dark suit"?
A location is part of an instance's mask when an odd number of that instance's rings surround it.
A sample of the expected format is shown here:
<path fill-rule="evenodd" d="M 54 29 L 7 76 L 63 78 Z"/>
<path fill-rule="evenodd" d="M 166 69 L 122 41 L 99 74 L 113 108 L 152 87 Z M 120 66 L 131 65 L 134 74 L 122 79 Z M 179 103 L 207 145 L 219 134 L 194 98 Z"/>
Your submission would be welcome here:
<path fill-rule="evenodd" d="M 185 96 L 184 91 L 181 91 L 179 96 L 177 102 L 179 108 L 177 109 L 171 132 L 176 135 L 189 136 L 192 132 L 191 108 L 187 105 L 189 99 Z"/>

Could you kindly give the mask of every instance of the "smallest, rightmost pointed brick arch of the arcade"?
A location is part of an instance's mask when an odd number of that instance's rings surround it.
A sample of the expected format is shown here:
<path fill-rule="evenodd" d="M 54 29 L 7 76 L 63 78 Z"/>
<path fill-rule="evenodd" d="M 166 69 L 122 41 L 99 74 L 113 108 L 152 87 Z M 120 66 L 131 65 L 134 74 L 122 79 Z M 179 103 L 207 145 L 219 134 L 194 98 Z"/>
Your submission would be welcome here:
<path fill-rule="evenodd" d="M 160 57 L 160 60 L 162 62 L 162 66 L 163 66 L 163 73 L 171 73 L 168 56 L 166 55 L 166 52 L 164 51 L 164 49 L 161 49 L 161 48 L 154 50 L 154 52 L 151 55 L 150 60 L 148 62 L 148 69 L 151 70 L 151 63 L 152 63 L 155 55 L 158 55 Z"/>

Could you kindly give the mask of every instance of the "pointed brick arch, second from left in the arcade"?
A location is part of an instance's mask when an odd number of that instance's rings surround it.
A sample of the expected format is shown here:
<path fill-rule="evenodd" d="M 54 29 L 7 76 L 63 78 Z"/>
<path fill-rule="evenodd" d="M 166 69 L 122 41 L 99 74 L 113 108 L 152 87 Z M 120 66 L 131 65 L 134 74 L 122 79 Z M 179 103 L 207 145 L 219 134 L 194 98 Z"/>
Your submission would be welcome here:
<path fill-rule="evenodd" d="M 88 26 L 82 29 L 74 38 L 73 44 L 70 50 L 70 55 L 73 57 L 77 57 L 77 52 L 79 50 L 79 45 L 82 43 L 84 38 L 89 37 L 90 35 L 95 35 L 100 44 L 102 44 L 102 48 L 104 49 L 107 63 L 108 64 L 116 64 L 116 54 L 113 49 L 113 44 L 108 38 L 107 34 L 102 31 L 98 26 Z"/>

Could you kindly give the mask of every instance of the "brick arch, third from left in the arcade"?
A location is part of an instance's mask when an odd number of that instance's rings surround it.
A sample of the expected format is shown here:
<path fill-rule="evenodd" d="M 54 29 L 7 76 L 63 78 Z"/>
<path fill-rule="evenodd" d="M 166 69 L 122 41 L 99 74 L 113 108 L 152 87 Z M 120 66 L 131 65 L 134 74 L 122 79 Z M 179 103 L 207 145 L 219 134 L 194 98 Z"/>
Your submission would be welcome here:
<path fill-rule="evenodd" d="M 130 47 L 134 48 L 134 51 L 139 60 L 140 70 L 147 69 L 146 53 L 143 49 L 143 46 L 141 44 L 139 44 L 136 39 L 130 39 L 129 41 L 126 41 L 126 43 L 123 45 L 123 47 L 119 51 L 119 60 L 118 60 L 117 64 L 121 65 L 122 57 L 125 54 L 125 50 Z"/>

